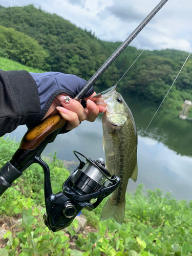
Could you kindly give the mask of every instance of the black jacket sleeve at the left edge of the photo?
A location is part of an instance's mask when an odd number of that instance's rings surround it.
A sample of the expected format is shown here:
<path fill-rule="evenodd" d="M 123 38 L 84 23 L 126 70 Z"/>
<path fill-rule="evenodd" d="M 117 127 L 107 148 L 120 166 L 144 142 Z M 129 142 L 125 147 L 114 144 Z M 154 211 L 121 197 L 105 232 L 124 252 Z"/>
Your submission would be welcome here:
<path fill-rule="evenodd" d="M 0 70 L 0 106 L 0 137 L 38 119 L 38 89 L 27 71 Z"/>

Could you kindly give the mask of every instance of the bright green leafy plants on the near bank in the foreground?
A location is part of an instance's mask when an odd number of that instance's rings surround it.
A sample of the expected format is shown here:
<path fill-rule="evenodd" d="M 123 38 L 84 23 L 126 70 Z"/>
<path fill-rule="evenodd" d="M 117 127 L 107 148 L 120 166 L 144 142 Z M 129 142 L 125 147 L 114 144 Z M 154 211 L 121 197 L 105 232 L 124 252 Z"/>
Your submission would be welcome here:
<path fill-rule="evenodd" d="M 0 167 L 11 158 L 18 143 L 0 138 Z M 56 159 L 46 159 L 51 169 L 54 193 L 60 191 L 69 173 Z M 62 177 L 60 180 L 59 177 Z M 34 164 L 25 170 L 5 195 L 0 198 L 1 219 L 14 221 L 4 235 L 4 248 L 0 255 L 82 255 L 82 256 L 162 256 L 192 255 L 192 202 L 177 201 L 169 193 L 163 196 L 160 189 L 143 193 L 138 185 L 135 195 L 126 195 L 125 219 L 122 226 L 113 220 L 100 221 L 104 202 L 93 212 L 83 210 L 87 226 L 76 233 L 75 220 L 67 230 L 53 233 L 42 221 L 45 213 L 43 172 Z"/>

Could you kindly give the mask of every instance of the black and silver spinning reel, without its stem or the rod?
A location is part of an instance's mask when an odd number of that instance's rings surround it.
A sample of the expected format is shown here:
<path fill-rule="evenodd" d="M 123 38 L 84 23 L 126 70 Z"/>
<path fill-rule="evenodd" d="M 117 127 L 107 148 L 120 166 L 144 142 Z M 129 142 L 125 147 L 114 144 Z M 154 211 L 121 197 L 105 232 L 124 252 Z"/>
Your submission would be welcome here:
<path fill-rule="evenodd" d="M 120 178 L 116 175 L 109 178 L 103 162 L 86 159 L 86 163 L 79 159 L 79 166 L 63 183 L 62 192 L 45 198 L 47 213 L 44 221 L 54 232 L 68 227 L 83 208 L 89 211 L 95 209 L 120 184 Z M 110 183 L 105 186 L 106 182 Z M 50 190 L 49 187 L 47 189 Z M 97 200 L 92 203 L 92 199 Z"/>

